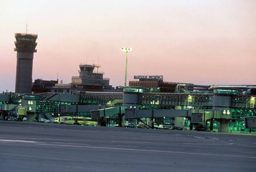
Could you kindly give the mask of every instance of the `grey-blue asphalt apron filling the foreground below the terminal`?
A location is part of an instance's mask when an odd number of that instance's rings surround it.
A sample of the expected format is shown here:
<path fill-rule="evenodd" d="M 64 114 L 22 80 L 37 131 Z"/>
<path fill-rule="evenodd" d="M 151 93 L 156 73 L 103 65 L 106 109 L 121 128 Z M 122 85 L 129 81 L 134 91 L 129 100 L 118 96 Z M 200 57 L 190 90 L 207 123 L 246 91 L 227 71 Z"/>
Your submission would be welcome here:
<path fill-rule="evenodd" d="M 256 135 L 0 121 L 0 171 L 256 171 Z"/>

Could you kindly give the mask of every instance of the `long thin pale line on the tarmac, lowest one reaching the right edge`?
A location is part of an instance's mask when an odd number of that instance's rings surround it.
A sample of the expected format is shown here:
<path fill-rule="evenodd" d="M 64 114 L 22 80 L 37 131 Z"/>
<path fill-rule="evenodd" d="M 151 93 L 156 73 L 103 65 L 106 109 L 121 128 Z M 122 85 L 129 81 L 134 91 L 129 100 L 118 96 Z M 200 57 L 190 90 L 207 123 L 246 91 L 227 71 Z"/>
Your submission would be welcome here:
<path fill-rule="evenodd" d="M 253 156 L 220 155 L 220 154 L 192 153 L 192 152 L 174 152 L 174 151 L 156 151 L 156 150 L 145 150 L 145 149 L 108 148 L 108 147 L 94 147 L 94 146 L 74 146 L 74 145 L 53 145 L 53 144 L 43 144 L 43 143 L 36 143 L 35 145 L 83 147 L 83 148 L 96 148 L 96 149 L 117 149 L 117 150 L 124 150 L 124 151 L 180 153 L 180 154 L 192 154 L 192 155 L 212 155 L 212 156 L 227 156 L 227 157 L 237 157 L 237 158 L 256 158 L 256 157 L 253 157 Z"/>

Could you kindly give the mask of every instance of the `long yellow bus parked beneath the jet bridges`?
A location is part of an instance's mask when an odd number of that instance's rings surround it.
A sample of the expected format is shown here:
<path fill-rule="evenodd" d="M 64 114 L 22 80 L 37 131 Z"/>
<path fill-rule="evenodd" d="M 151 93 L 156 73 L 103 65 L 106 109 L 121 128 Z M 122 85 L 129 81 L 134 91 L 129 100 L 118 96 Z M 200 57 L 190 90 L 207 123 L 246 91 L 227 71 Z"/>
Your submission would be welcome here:
<path fill-rule="evenodd" d="M 92 121 L 90 117 L 61 117 L 63 124 L 78 124 L 78 125 L 98 125 L 98 122 Z M 76 123 L 77 121 L 77 123 Z"/>

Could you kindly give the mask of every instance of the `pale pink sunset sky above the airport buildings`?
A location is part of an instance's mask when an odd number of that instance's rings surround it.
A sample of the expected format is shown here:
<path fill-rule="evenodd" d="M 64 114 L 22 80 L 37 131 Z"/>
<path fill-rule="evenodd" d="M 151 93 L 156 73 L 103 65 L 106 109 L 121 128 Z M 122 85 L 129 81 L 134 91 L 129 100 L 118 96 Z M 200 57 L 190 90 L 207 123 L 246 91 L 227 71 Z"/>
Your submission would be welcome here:
<path fill-rule="evenodd" d="M 98 63 L 113 86 L 128 77 L 256 85 L 254 0 L 0 0 L 0 91 L 15 88 L 14 33 L 38 33 L 33 80 L 63 83 Z"/>

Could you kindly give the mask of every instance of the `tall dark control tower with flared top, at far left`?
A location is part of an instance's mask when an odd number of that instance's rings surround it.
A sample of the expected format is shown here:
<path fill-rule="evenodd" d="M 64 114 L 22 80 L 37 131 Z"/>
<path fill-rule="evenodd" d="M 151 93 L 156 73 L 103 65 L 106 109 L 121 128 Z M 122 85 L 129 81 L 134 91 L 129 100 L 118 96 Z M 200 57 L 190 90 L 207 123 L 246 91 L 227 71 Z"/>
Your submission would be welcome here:
<path fill-rule="evenodd" d="M 15 33 L 17 51 L 16 93 L 31 93 L 33 56 L 37 52 L 36 34 Z"/>

